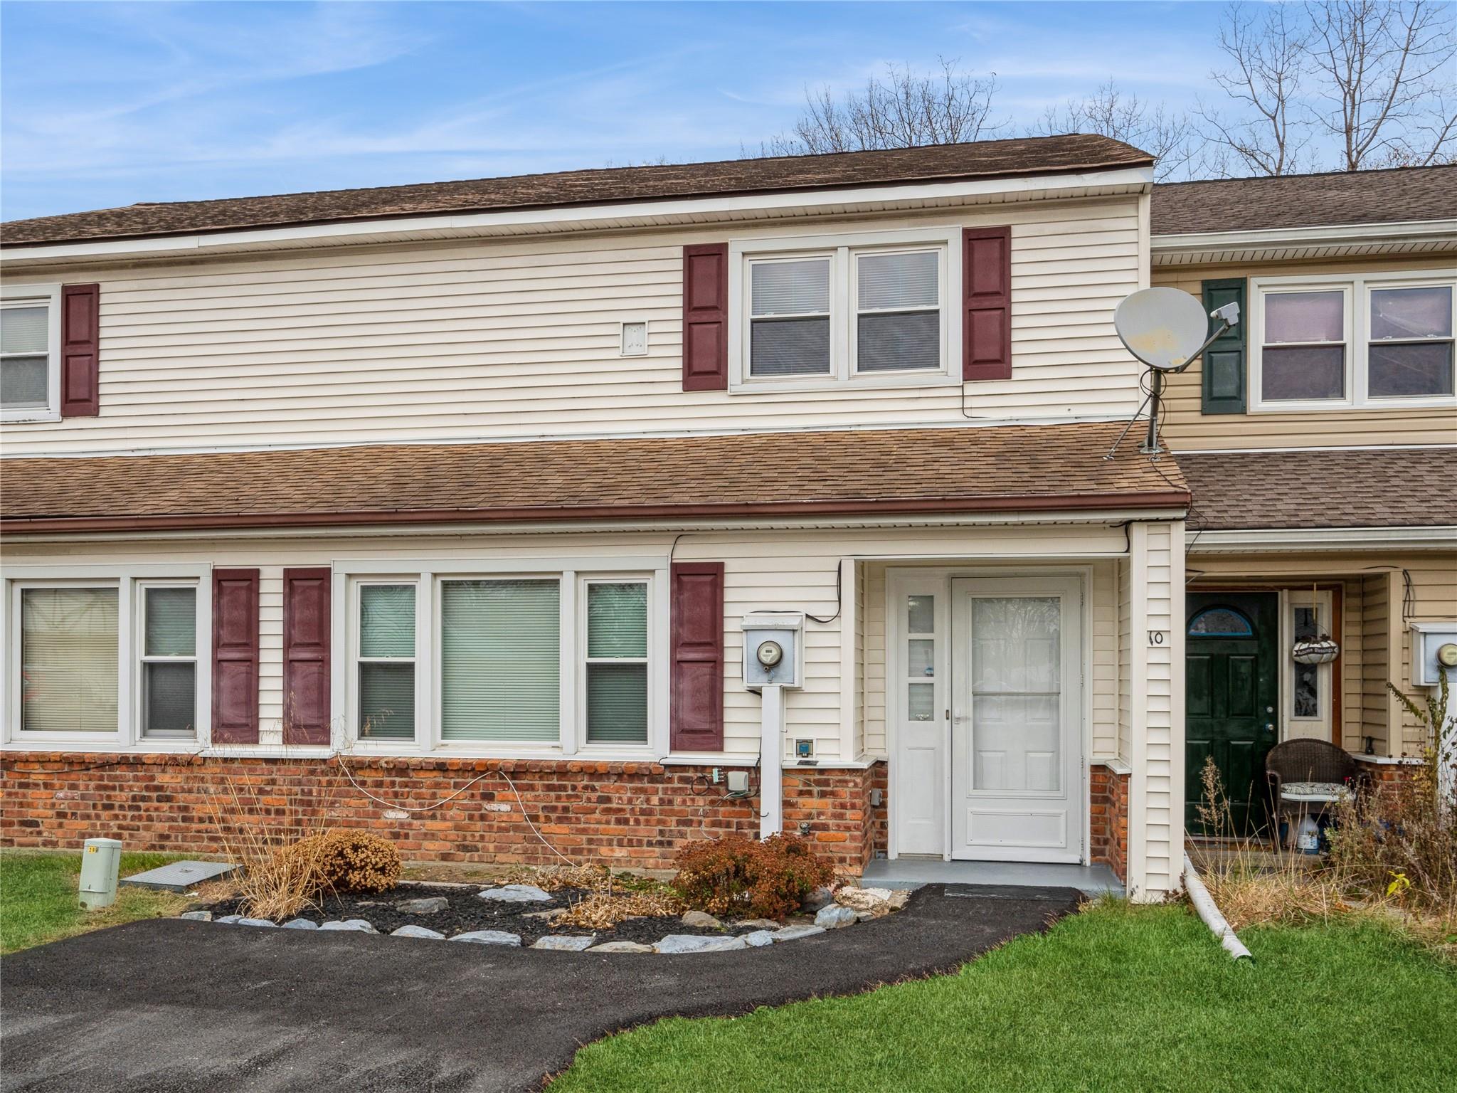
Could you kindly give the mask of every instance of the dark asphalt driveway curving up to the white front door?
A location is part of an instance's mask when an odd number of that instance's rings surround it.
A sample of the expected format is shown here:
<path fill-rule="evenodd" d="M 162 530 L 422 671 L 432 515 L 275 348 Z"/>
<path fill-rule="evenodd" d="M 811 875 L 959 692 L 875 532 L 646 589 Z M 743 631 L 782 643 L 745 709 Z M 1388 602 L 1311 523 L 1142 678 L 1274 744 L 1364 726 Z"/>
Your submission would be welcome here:
<path fill-rule="evenodd" d="M 131 922 L 0 960 L 0 1089 L 530 1090 L 610 1032 L 950 971 L 1078 899 L 937 886 L 849 930 L 689 956 Z"/>

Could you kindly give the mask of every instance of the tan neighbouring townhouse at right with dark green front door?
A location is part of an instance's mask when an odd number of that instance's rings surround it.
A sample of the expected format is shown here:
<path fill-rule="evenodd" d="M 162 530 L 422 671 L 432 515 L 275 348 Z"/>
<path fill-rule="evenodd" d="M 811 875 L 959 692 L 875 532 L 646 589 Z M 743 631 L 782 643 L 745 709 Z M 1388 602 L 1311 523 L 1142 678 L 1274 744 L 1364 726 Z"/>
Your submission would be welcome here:
<path fill-rule="evenodd" d="M 1279 740 L 1400 777 L 1431 740 L 1386 683 L 1412 691 L 1413 624 L 1457 621 L 1457 166 L 1158 185 L 1152 283 L 1246 315 L 1166 402 L 1187 819 L 1206 758 L 1259 815 Z M 1297 663 L 1311 637 L 1335 659 Z"/>

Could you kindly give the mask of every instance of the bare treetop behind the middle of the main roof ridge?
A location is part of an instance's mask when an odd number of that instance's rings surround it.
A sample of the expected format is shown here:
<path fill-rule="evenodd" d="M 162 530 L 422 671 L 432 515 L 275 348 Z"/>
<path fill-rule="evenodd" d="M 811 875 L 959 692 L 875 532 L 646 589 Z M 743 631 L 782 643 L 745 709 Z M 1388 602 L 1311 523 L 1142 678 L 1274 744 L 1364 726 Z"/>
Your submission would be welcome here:
<path fill-rule="evenodd" d="M 906 149 L 978 140 L 1002 128 L 992 120 L 997 74 L 973 76 L 957 61 L 938 58 L 940 73 L 909 64 L 886 66 L 864 90 L 836 96 L 829 87 L 804 92 L 804 114 L 790 133 L 763 141 L 761 156 Z M 752 154 L 752 153 L 749 153 Z"/>

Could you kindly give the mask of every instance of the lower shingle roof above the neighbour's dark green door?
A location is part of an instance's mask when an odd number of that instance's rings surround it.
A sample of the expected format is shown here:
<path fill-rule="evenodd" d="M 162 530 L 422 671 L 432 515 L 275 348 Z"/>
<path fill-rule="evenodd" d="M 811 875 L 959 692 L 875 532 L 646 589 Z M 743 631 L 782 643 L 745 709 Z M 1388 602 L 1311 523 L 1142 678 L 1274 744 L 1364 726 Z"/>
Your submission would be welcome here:
<path fill-rule="evenodd" d="M 1457 525 L 1457 449 L 1179 455 L 1190 528 Z"/>

